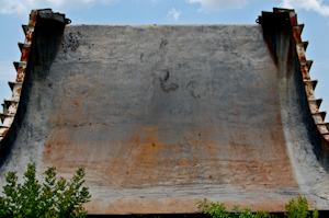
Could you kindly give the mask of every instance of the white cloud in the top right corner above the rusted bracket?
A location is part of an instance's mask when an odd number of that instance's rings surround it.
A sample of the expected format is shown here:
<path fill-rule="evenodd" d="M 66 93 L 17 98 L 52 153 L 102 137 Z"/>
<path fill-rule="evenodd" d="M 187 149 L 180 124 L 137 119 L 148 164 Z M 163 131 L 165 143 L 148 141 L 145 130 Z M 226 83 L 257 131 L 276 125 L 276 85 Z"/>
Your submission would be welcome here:
<path fill-rule="evenodd" d="M 329 16 L 329 5 L 322 0 L 282 0 L 281 7 L 291 9 L 305 9 L 315 11 L 322 16 Z"/>

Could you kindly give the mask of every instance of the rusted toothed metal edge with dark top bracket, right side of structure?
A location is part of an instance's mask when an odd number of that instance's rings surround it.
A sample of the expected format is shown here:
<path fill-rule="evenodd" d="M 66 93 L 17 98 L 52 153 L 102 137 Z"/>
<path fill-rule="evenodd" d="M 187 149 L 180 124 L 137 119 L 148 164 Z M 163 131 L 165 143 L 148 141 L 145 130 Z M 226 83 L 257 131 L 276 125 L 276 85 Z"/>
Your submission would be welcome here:
<path fill-rule="evenodd" d="M 318 130 L 322 134 L 327 141 L 329 141 L 329 125 L 324 123 L 327 112 L 319 112 L 322 100 L 316 99 L 314 91 L 317 85 L 317 80 L 310 80 L 309 70 L 313 65 L 313 60 L 307 60 L 305 56 L 308 42 L 302 41 L 302 32 L 304 24 L 297 23 L 297 14 L 295 10 L 292 9 L 280 9 L 273 8 L 273 12 L 262 12 L 257 20 L 259 24 L 270 24 L 270 25 L 284 25 L 290 27 L 293 33 L 293 38 L 296 44 L 296 51 L 299 60 L 299 67 L 303 74 L 304 88 L 308 101 L 308 106 L 313 116 L 315 124 L 318 127 Z"/>

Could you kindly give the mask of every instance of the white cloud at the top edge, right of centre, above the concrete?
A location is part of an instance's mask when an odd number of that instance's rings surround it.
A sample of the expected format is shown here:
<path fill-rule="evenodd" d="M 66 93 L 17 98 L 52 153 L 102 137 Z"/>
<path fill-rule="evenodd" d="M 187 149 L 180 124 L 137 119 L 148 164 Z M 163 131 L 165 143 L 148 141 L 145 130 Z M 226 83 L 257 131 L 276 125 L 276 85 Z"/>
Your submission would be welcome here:
<path fill-rule="evenodd" d="M 186 0 L 188 3 L 200 3 L 198 12 L 223 11 L 225 9 L 240 9 L 248 3 L 247 0 Z"/>

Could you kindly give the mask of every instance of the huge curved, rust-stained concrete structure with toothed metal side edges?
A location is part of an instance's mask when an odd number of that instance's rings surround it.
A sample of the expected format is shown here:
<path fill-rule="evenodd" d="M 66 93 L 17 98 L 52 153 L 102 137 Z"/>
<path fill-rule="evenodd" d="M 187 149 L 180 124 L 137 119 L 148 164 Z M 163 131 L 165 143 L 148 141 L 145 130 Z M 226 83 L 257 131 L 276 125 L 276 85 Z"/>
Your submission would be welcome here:
<path fill-rule="evenodd" d="M 203 198 L 282 211 L 297 194 L 328 209 L 328 129 L 293 10 L 254 25 L 67 23 L 39 10 L 23 26 L 1 175 L 86 165 L 91 214 Z"/>

